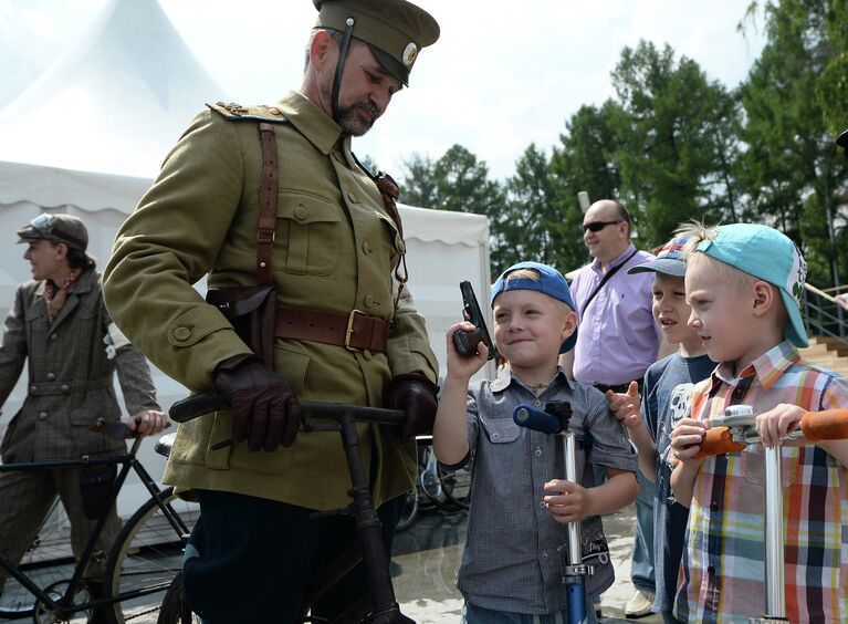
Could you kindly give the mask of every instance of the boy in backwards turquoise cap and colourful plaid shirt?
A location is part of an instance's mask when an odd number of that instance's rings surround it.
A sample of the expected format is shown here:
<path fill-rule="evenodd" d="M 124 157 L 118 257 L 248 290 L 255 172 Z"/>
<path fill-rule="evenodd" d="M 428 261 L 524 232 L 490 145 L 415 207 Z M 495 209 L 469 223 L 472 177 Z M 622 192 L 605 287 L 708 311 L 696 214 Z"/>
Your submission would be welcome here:
<path fill-rule="evenodd" d="M 765 606 L 762 445 L 697 459 L 709 418 L 730 405 L 757 413 L 765 446 L 806 410 L 848 407 L 848 381 L 802 360 L 799 310 L 806 264 L 777 230 L 734 223 L 692 228 L 689 320 L 720 362 L 692 393 L 692 418 L 671 447 L 677 500 L 689 506 L 674 614 L 685 622 L 740 622 Z M 789 622 L 848 622 L 848 440 L 800 440 L 781 449 L 784 564 Z"/>

